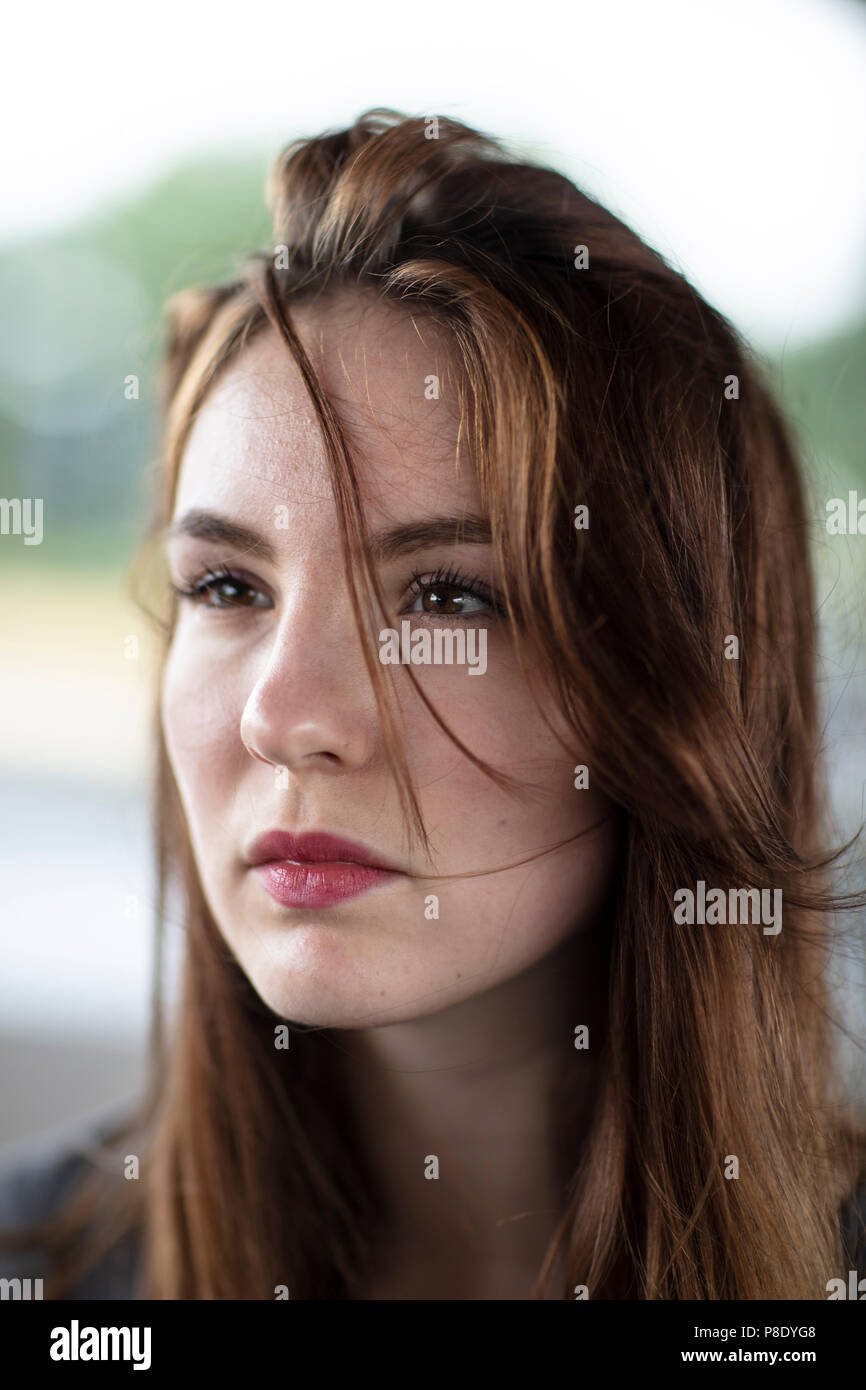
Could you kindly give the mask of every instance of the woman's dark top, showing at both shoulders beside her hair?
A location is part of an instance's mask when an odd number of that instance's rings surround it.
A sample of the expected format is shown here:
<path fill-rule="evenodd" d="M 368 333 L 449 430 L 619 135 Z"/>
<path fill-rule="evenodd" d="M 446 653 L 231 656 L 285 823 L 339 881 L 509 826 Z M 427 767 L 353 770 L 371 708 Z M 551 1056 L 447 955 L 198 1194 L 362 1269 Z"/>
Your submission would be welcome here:
<path fill-rule="evenodd" d="M 28 1226 L 54 1215 L 71 1195 L 76 1183 L 92 1163 L 110 1168 L 118 1182 L 124 1182 L 121 1156 L 115 1151 L 110 1165 L 101 1145 L 106 1134 L 124 1119 L 113 1111 L 89 1126 L 54 1133 L 29 1144 L 11 1159 L 0 1159 L 0 1230 Z M 856 1204 L 849 1204 L 841 1216 L 845 1241 L 845 1268 L 827 1270 L 827 1279 L 847 1280 L 848 1270 L 856 1269 L 866 1277 L 866 1183 L 858 1193 Z M 138 1277 L 140 1268 L 139 1241 L 128 1237 L 106 1255 L 65 1295 L 67 1298 L 140 1298 Z M 1 1279 L 47 1279 L 44 1252 L 35 1250 L 17 1254 L 0 1250 Z"/>

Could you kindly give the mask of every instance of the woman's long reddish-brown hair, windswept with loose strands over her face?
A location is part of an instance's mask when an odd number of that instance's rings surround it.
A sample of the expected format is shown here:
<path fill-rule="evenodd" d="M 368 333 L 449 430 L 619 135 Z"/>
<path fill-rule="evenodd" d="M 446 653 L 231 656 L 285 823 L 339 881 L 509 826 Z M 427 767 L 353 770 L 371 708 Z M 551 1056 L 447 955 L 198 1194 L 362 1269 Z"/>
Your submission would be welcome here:
<path fill-rule="evenodd" d="M 348 580 L 373 603 L 350 452 L 291 307 L 363 286 L 432 316 L 460 367 L 518 649 L 549 673 L 621 819 L 601 1080 L 537 1293 L 564 1257 L 564 1298 L 578 1284 L 591 1298 L 826 1297 L 865 1162 L 826 965 L 831 913 L 862 902 L 827 885 L 809 513 L 759 361 L 621 221 L 459 121 L 368 111 L 292 143 L 268 195 L 275 253 L 168 306 L 154 531 L 196 411 L 271 327 L 317 410 Z M 370 653 L 368 667 L 423 834 Z M 183 992 L 171 1026 L 157 1001 L 126 1140 L 142 1180 L 88 1188 L 53 1223 L 49 1295 L 136 1230 L 150 1297 L 357 1297 L 386 1212 L 339 1045 L 295 1029 L 274 1048 L 157 741 L 158 917 L 174 892 Z M 676 923 L 674 892 L 701 880 L 781 890 L 784 929 Z"/>

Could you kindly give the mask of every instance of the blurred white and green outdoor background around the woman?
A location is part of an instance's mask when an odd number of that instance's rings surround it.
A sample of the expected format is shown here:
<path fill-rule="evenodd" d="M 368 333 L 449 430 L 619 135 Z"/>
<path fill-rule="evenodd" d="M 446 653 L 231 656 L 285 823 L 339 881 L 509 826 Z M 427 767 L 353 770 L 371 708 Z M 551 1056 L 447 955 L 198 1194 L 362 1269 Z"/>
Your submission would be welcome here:
<path fill-rule="evenodd" d="M 863 4 L 336 0 L 322 24 L 154 0 L 15 7 L 4 33 L 0 498 L 42 498 L 43 537 L 0 535 L 0 1143 L 143 1077 L 153 649 L 128 570 L 161 306 L 270 246 L 271 160 L 367 107 L 453 115 L 560 168 L 765 359 L 809 474 L 833 806 L 853 834 L 866 535 L 830 535 L 826 503 L 866 499 Z M 863 1097 L 849 949 L 837 976 Z"/>

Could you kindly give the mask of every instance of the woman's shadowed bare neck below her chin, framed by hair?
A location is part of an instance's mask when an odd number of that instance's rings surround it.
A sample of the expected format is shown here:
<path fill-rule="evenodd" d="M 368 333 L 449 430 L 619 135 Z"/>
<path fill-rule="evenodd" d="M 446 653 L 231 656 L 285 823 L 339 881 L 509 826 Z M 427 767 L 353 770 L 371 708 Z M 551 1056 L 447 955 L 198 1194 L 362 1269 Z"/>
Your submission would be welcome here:
<path fill-rule="evenodd" d="M 391 1212 L 377 1287 L 531 1295 L 580 1151 L 601 994 L 595 941 L 584 935 L 441 1013 L 342 1036 Z M 578 1026 L 588 1048 L 574 1045 Z"/>

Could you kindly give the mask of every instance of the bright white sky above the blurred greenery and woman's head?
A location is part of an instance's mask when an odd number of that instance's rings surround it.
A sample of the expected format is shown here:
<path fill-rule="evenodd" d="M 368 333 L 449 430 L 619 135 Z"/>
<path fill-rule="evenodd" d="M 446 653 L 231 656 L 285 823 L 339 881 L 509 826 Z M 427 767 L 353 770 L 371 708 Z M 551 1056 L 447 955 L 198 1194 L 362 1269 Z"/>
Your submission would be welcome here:
<path fill-rule="evenodd" d="M 4 50 L 6 239 L 395 106 L 541 147 L 766 343 L 866 302 L 858 0 L 49 0 Z"/>

